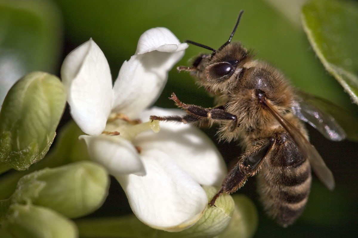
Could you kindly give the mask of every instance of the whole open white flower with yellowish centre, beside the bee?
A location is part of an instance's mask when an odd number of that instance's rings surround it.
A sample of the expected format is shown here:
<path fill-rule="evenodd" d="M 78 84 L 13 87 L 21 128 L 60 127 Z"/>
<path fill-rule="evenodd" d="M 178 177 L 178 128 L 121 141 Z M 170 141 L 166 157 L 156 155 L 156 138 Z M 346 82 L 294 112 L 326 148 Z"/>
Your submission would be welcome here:
<path fill-rule="evenodd" d="M 149 122 L 150 115 L 183 113 L 146 108 L 155 102 L 168 71 L 187 47 L 168 29 L 146 31 L 113 88 L 106 57 L 92 39 L 72 51 L 61 69 L 71 115 L 88 134 L 81 138 L 91 158 L 120 182 L 142 222 L 166 231 L 180 231 L 198 221 L 208 203 L 200 184 L 218 186 L 226 171 L 213 143 L 197 128 L 162 123 L 155 133 L 155 124 Z M 119 135 L 102 133 L 108 131 Z"/>

